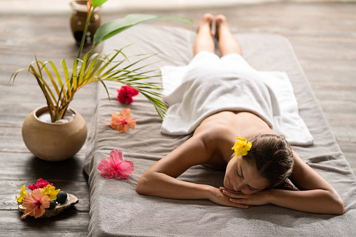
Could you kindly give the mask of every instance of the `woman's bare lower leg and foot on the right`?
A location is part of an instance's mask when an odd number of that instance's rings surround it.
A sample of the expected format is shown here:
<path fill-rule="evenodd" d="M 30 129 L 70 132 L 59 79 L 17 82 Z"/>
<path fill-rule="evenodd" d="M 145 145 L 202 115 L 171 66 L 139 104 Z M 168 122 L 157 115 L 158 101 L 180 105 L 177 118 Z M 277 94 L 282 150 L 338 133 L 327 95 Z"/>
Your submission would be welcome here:
<path fill-rule="evenodd" d="M 236 38 L 232 35 L 227 20 L 224 15 L 217 15 L 215 17 L 216 35 L 219 38 L 219 48 L 221 57 L 232 53 L 242 55 L 240 44 L 236 41 Z"/>

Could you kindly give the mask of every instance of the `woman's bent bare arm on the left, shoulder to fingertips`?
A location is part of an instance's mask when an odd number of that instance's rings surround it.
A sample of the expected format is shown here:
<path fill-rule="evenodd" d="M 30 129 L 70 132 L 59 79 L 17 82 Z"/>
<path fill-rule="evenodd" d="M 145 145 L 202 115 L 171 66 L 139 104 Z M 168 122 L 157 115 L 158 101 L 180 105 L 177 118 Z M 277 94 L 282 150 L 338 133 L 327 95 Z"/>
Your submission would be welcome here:
<path fill-rule="evenodd" d="M 223 206 L 248 208 L 230 202 L 229 197 L 215 187 L 177 179 L 188 168 L 209 163 L 215 151 L 213 140 L 208 136 L 194 135 L 143 173 L 137 183 L 137 192 L 168 199 L 208 199 Z"/>

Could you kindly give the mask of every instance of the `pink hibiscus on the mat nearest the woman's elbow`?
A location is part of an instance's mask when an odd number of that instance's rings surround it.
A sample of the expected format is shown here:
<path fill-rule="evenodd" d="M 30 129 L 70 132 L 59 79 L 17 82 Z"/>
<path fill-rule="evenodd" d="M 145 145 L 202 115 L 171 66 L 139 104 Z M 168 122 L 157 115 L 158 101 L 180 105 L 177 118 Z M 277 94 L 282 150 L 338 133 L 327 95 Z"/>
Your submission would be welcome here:
<path fill-rule="evenodd" d="M 101 159 L 97 168 L 105 178 L 116 178 L 118 180 L 128 180 L 129 175 L 134 172 L 134 163 L 124 161 L 124 155 L 120 150 L 112 150 L 110 158 Z"/>

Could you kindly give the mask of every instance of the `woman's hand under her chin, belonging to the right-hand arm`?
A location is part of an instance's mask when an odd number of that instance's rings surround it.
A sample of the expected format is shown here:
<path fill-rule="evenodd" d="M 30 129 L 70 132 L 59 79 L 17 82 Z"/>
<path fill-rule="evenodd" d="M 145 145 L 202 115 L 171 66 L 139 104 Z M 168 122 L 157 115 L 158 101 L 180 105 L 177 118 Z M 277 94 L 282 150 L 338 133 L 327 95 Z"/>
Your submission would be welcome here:
<path fill-rule="evenodd" d="M 269 203 L 267 199 L 269 190 L 261 190 L 253 194 L 243 194 L 242 192 L 220 187 L 220 192 L 229 199 L 229 202 L 242 206 L 259 206 Z"/>

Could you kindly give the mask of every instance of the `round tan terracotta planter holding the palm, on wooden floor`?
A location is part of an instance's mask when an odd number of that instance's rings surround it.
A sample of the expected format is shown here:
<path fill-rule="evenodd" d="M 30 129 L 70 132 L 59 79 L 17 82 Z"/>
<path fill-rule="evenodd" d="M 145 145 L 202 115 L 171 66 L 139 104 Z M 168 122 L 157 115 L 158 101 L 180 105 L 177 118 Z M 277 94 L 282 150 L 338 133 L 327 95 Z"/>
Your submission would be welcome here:
<path fill-rule="evenodd" d="M 36 157 L 47 161 L 62 161 L 76 155 L 87 138 L 87 124 L 83 117 L 69 108 L 76 117 L 71 122 L 57 124 L 42 122 L 38 116 L 48 111 L 47 106 L 36 108 L 22 124 L 22 138 Z"/>

